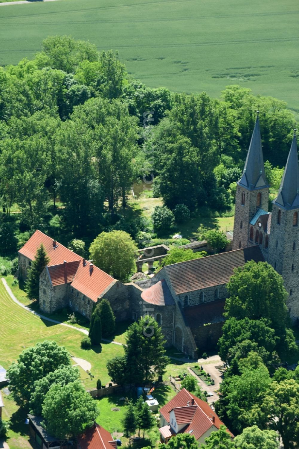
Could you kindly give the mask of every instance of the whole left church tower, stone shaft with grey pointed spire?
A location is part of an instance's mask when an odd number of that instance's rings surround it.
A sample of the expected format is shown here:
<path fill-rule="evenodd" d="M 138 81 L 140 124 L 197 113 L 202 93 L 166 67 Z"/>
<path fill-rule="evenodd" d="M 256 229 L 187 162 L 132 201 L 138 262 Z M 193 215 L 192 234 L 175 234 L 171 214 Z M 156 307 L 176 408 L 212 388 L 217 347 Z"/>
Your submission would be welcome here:
<path fill-rule="evenodd" d="M 257 113 L 243 175 L 237 182 L 233 250 L 253 245 L 249 241 L 250 221 L 258 209 L 262 209 L 265 214 L 268 212 L 268 200 L 269 186 L 265 178 L 259 113 Z"/>

